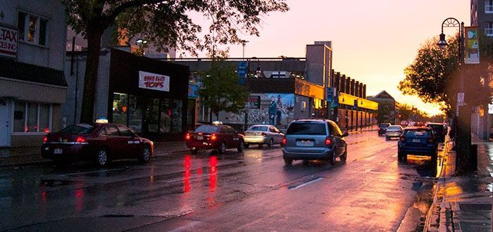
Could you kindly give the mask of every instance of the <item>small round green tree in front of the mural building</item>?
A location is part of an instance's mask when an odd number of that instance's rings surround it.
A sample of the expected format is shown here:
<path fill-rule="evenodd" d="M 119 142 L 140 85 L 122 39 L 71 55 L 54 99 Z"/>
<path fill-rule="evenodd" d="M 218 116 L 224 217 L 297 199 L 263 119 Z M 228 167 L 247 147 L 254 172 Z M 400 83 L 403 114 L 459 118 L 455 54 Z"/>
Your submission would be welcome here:
<path fill-rule="evenodd" d="M 213 61 L 211 68 L 201 72 L 201 89 L 198 94 L 202 105 L 205 105 L 216 117 L 220 111 L 238 113 L 244 110 L 248 92 L 238 84 L 239 77 L 234 67 Z"/>

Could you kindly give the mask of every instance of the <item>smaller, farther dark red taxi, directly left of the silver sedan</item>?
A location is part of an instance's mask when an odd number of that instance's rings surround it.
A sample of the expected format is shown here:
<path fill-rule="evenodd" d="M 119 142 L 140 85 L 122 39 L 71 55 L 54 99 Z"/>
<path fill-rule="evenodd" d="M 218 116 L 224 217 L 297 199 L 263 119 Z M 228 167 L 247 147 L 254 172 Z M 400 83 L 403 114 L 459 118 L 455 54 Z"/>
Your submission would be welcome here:
<path fill-rule="evenodd" d="M 218 150 L 223 154 L 227 148 L 237 148 L 241 152 L 244 148 L 243 135 L 223 124 L 201 125 L 194 133 L 187 134 L 185 140 L 192 154 L 206 149 Z"/>

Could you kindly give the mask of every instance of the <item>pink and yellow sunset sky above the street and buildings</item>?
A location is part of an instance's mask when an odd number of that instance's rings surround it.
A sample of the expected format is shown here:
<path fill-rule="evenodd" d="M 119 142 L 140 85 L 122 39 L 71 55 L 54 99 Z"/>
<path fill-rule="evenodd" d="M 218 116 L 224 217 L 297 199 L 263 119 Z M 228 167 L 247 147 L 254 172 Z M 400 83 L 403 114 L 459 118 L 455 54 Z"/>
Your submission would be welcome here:
<path fill-rule="evenodd" d="M 397 85 L 426 39 L 438 35 L 449 17 L 470 25 L 469 0 L 287 1 L 286 13 L 263 18 L 260 37 L 244 37 L 245 57 L 305 57 L 305 45 L 332 41 L 333 67 L 367 86 L 367 95 L 386 90 L 401 103 L 439 113 L 437 105 L 403 96 Z M 445 30 L 454 34 L 456 27 Z M 231 46 L 230 57 L 242 57 Z"/>

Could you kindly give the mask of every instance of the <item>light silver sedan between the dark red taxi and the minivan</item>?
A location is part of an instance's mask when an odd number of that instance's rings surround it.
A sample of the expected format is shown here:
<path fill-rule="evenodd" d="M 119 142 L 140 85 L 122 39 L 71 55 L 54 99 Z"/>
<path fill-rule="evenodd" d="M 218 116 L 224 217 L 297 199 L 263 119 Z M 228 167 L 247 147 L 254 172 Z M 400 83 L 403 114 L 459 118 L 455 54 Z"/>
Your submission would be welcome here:
<path fill-rule="evenodd" d="M 268 124 L 253 125 L 244 131 L 244 134 L 245 148 L 249 148 L 250 144 L 258 144 L 259 148 L 266 144 L 272 148 L 274 144 L 282 145 L 282 138 L 284 137 L 284 133 Z"/>

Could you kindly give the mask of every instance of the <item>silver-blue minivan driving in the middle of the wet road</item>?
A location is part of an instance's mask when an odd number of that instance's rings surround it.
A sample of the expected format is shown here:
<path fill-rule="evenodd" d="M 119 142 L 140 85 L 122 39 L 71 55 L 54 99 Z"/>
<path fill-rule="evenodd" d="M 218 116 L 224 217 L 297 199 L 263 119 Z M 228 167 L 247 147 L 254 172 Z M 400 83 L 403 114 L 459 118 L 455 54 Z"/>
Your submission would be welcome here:
<path fill-rule="evenodd" d="M 328 160 L 335 165 L 335 158 L 347 159 L 347 143 L 337 124 L 331 120 L 297 120 L 289 124 L 282 139 L 282 155 L 286 165 L 293 160 Z"/>

